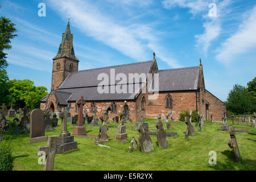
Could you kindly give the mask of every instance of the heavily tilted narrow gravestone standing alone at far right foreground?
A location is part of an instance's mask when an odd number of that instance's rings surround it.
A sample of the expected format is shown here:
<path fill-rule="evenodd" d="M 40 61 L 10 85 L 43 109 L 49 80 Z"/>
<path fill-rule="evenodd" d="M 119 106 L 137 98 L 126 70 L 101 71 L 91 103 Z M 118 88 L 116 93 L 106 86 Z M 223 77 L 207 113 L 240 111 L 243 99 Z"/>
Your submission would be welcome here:
<path fill-rule="evenodd" d="M 228 131 L 229 131 L 230 138 L 231 138 L 231 140 L 228 141 L 228 145 L 234 153 L 236 162 L 241 163 L 240 152 L 239 152 L 239 148 L 238 148 L 238 144 L 237 144 L 236 133 L 235 133 L 234 127 L 228 126 Z"/>

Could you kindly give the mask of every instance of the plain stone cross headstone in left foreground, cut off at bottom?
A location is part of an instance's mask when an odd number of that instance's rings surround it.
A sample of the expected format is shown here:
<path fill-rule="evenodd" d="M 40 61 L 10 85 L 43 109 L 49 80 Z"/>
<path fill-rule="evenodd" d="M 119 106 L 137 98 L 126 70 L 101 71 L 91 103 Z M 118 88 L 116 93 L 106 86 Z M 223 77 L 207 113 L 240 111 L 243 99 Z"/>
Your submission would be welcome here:
<path fill-rule="evenodd" d="M 57 146 L 57 136 L 48 136 L 47 146 L 44 147 L 44 152 L 46 155 L 44 171 L 53 171 L 54 160 L 56 154 Z M 38 155 L 42 154 L 42 151 L 38 151 Z"/>

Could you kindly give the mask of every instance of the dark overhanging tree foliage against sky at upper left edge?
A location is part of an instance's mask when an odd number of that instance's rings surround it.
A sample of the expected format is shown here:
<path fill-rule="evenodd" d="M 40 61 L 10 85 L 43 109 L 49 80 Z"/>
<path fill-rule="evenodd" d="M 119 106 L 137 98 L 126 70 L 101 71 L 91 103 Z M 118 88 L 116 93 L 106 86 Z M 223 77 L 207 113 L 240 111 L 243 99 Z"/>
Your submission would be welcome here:
<path fill-rule="evenodd" d="M 5 18 L 5 16 L 0 17 L 0 69 L 5 69 L 8 66 L 6 61 L 7 53 L 3 51 L 5 49 L 10 49 L 11 39 L 18 36 L 14 34 L 14 32 L 17 31 L 16 28 L 14 28 L 15 25 L 16 24 L 12 23 L 9 18 Z"/>

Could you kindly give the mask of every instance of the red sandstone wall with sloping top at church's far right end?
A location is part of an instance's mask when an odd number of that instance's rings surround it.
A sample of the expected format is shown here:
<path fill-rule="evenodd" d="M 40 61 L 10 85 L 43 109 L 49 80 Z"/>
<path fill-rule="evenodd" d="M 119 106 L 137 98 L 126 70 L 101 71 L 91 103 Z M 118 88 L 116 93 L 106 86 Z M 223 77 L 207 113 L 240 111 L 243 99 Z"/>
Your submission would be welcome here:
<path fill-rule="evenodd" d="M 212 114 L 213 121 L 222 121 L 222 112 L 226 113 L 226 106 L 224 102 L 218 100 L 217 97 L 213 96 L 206 90 L 205 99 L 209 102 L 209 115 Z"/>

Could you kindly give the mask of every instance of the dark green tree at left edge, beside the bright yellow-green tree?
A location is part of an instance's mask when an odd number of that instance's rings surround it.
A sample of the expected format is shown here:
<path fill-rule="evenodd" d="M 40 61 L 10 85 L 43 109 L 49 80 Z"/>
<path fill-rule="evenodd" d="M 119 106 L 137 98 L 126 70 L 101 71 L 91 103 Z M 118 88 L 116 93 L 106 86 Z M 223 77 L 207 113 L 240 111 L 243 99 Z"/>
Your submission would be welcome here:
<path fill-rule="evenodd" d="M 0 69 L 0 104 L 5 103 L 9 104 L 9 100 L 6 97 L 9 94 L 9 88 L 7 82 L 9 81 L 9 77 L 7 76 L 7 72 L 5 69 Z"/>

